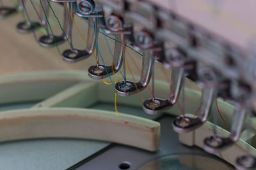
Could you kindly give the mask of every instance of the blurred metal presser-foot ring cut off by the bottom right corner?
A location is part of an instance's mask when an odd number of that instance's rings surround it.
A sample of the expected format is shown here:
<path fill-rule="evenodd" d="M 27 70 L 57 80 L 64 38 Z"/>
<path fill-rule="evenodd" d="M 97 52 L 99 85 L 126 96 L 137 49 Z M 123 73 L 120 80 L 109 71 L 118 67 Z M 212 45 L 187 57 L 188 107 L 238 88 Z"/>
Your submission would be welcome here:
<path fill-rule="evenodd" d="M 237 170 L 256 169 L 256 157 L 253 155 L 243 155 L 236 160 Z"/>

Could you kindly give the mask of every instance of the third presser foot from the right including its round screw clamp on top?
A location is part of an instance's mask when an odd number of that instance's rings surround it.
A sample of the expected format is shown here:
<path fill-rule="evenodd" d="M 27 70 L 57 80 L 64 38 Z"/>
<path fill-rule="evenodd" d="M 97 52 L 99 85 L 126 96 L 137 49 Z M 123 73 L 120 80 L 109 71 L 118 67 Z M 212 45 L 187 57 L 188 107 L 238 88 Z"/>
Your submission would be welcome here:
<path fill-rule="evenodd" d="M 200 73 L 201 81 L 198 83 L 203 86 L 200 111 L 198 117 L 177 117 L 173 120 L 173 130 L 178 133 L 193 131 L 200 127 L 207 120 L 209 111 L 214 98 L 216 83 L 218 76 L 211 67 L 203 67 L 198 71 Z"/>

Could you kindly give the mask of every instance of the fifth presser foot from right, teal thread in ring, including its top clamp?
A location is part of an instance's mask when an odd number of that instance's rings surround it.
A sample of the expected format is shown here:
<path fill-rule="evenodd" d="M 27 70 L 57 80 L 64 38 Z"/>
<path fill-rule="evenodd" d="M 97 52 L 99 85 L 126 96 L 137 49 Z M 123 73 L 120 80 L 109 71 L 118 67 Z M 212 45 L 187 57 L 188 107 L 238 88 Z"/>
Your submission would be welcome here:
<path fill-rule="evenodd" d="M 154 62 L 156 56 L 158 57 L 158 55 L 162 55 L 163 53 L 163 48 L 159 47 L 163 46 L 163 44 L 154 41 L 147 31 L 138 32 L 136 45 L 136 48 L 143 51 L 140 81 L 133 82 L 124 80 L 116 83 L 115 90 L 119 96 L 130 96 L 144 90 L 151 78 L 152 62 Z"/>

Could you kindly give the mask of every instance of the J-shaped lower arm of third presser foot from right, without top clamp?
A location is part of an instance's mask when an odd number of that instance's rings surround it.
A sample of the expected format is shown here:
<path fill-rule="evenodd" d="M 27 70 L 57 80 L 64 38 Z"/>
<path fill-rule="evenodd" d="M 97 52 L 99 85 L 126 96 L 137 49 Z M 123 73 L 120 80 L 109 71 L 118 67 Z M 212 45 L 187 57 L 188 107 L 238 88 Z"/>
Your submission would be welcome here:
<path fill-rule="evenodd" d="M 212 104 L 212 99 L 214 97 L 215 89 L 213 87 L 207 87 L 203 89 L 201 98 L 201 108 L 198 117 L 177 117 L 173 120 L 173 130 L 178 133 L 184 133 L 193 131 L 200 127 L 207 120 L 209 111 Z"/>

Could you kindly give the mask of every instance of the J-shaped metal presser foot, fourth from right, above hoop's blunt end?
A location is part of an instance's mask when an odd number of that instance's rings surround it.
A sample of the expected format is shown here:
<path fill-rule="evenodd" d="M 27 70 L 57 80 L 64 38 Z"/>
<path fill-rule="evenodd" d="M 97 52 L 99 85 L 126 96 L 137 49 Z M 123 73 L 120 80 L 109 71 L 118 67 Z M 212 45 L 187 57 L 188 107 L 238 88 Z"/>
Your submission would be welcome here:
<path fill-rule="evenodd" d="M 157 115 L 172 108 L 179 96 L 182 78 L 184 77 L 184 67 L 172 69 L 171 94 L 168 99 L 150 98 L 144 101 L 143 110 L 149 115 Z"/>

